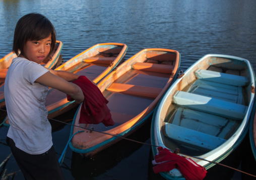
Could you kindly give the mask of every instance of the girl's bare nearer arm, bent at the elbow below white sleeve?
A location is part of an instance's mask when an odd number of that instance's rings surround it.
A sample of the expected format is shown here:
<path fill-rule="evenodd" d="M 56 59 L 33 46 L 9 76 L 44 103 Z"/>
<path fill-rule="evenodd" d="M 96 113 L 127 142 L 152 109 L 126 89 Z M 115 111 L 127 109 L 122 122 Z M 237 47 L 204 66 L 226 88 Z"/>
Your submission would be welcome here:
<path fill-rule="evenodd" d="M 64 73 L 64 74 L 66 74 L 66 73 Z M 71 73 L 71 74 L 73 74 L 73 73 Z M 77 79 L 79 76 L 77 78 L 76 78 L 76 76 L 67 76 L 67 77 L 68 77 L 67 80 L 71 80 L 73 78 Z M 65 94 L 70 95 L 73 99 L 75 99 L 75 101 L 78 104 L 82 103 L 84 100 L 84 94 L 83 94 L 81 88 L 74 83 L 68 82 L 67 80 L 65 80 L 64 78 L 62 79 L 58 76 L 55 76 L 51 72 L 47 72 L 47 73 L 43 74 L 42 76 L 40 76 L 39 78 L 37 78 L 35 82 L 38 82 L 45 86 L 57 89 Z"/>

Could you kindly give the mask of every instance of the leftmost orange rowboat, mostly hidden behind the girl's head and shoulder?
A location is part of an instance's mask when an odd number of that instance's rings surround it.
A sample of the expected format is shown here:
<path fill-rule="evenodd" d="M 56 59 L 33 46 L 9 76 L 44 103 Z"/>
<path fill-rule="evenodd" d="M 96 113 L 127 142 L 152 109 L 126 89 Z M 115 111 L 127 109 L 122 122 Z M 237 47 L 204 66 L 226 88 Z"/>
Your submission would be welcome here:
<path fill-rule="evenodd" d="M 55 51 L 52 55 L 51 60 L 49 60 L 47 63 L 42 62 L 41 65 L 50 69 L 55 68 L 59 60 L 62 47 L 63 47 L 62 42 L 56 41 Z M 14 52 L 11 52 L 5 57 L 3 57 L 2 59 L 0 59 L 0 108 L 5 107 L 6 105 L 5 95 L 4 95 L 4 84 L 5 84 L 6 74 L 13 59 L 16 57 L 17 55 Z"/>

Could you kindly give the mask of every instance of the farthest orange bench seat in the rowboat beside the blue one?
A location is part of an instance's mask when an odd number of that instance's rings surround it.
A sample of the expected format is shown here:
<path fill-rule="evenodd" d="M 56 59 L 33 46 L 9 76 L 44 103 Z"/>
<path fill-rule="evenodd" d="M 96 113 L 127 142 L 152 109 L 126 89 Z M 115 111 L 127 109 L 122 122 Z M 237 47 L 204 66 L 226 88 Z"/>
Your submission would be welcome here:
<path fill-rule="evenodd" d="M 173 67 L 171 65 L 154 64 L 154 63 L 135 63 L 132 65 L 136 70 L 151 71 L 157 73 L 171 74 Z"/>

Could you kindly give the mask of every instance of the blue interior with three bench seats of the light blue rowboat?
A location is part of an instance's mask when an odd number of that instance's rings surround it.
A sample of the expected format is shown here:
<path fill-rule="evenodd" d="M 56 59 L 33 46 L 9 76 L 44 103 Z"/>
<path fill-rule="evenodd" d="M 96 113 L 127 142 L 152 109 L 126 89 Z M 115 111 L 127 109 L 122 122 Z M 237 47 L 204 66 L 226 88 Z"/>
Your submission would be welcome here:
<path fill-rule="evenodd" d="M 186 73 L 173 90 L 162 123 L 167 147 L 201 155 L 220 146 L 238 129 L 250 99 L 247 65 L 216 59 L 210 57 Z"/>

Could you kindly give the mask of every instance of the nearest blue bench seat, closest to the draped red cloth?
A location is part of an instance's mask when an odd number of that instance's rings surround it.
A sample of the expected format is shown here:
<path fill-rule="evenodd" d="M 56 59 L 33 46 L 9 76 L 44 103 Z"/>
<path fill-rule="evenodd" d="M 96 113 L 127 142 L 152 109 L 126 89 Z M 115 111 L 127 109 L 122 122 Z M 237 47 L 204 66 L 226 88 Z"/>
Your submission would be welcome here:
<path fill-rule="evenodd" d="M 165 122 L 165 135 L 190 147 L 213 150 L 226 139 Z M 190 145 L 191 144 L 191 145 Z"/>

